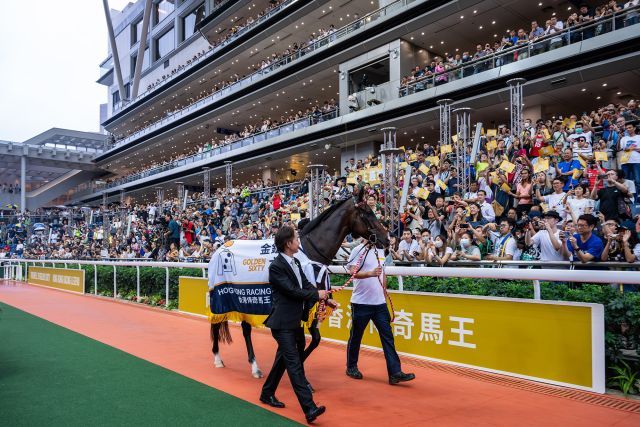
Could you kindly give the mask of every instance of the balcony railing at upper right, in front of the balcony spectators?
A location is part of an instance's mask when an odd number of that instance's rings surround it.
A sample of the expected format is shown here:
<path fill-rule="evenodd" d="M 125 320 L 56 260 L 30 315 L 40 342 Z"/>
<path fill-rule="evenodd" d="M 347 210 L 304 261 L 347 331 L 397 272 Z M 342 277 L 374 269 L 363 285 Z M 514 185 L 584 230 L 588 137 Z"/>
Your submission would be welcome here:
<path fill-rule="evenodd" d="M 627 28 L 639 22 L 639 13 L 640 6 L 624 9 L 612 15 L 596 19 L 593 22 L 575 25 L 555 34 L 548 34 L 533 41 L 526 41 L 520 46 L 513 46 L 499 52 L 493 52 L 482 58 L 466 62 L 440 73 L 420 77 L 406 86 L 400 86 L 398 94 L 400 97 L 411 95 L 434 86 L 461 80 L 465 77 L 483 73 L 513 62 L 522 61 L 564 46 L 581 43 L 584 40 L 597 37 L 601 34 Z"/>

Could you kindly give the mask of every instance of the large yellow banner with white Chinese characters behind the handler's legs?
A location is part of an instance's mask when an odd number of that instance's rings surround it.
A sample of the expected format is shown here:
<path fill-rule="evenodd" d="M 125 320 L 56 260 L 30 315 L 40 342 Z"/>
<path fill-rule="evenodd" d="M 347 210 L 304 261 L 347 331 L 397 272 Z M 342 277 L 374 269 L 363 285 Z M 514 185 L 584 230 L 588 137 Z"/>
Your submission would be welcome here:
<path fill-rule="evenodd" d="M 351 291 L 322 336 L 349 339 Z M 604 392 L 604 308 L 600 304 L 392 292 L 399 352 L 553 384 Z M 363 344 L 380 348 L 373 326 Z"/>

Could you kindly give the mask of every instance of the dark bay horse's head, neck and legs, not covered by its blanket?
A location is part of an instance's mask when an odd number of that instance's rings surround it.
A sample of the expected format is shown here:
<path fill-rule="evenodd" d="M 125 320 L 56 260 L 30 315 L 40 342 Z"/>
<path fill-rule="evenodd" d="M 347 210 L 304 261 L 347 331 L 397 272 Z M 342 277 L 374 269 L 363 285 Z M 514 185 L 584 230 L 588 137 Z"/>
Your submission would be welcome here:
<path fill-rule="evenodd" d="M 389 246 L 389 232 L 364 202 L 366 198 L 363 193 L 364 191 L 360 191 L 358 197 L 351 197 L 336 203 L 300 231 L 301 246 L 304 249 L 304 254 L 311 261 L 324 265 L 331 264 L 333 257 L 349 234 L 354 238 L 363 237 L 380 249 Z M 226 321 L 212 323 L 210 332 L 213 341 L 214 364 L 216 368 L 223 368 L 224 363 L 220 357 L 219 343 L 231 343 L 229 324 Z M 247 322 L 242 322 L 242 335 L 247 346 L 251 373 L 255 378 L 262 378 L 262 371 L 256 362 L 251 342 L 251 325 Z M 313 344 L 305 351 L 305 359 L 319 343 L 319 333 L 313 338 Z"/>

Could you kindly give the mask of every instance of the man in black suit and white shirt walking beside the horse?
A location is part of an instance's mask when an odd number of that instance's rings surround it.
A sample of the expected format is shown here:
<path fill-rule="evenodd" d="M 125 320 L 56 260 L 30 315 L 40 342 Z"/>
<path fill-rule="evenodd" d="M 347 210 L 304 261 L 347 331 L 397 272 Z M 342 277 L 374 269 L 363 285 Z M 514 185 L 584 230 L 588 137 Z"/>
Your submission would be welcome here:
<path fill-rule="evenodd" d="M 275 244 L 279 255 L 269 266 L 272 308 L 264 324 L 271 328 L 278 351 L 262 387 L 260 401 L 275 408 L 284 408 L 284 403 L 276 398 L 275 392 L 286 369 L 307 422 L 312 422 L 324 413 L 325 407 L 314 403 L 307 387 L 302 365 L 305 339 L 301 321 L 305 315 L 308 317 L 309 307 L 313 303 L 327 298 L 327 291 L 317 290 L 309 283 L 300 263 L 293 257 L 298 252 L 300 242 L 292 227 L 280 228 L 275 236 Z"/>

